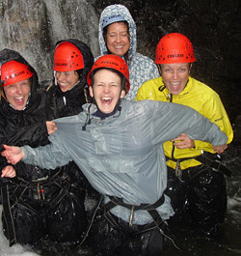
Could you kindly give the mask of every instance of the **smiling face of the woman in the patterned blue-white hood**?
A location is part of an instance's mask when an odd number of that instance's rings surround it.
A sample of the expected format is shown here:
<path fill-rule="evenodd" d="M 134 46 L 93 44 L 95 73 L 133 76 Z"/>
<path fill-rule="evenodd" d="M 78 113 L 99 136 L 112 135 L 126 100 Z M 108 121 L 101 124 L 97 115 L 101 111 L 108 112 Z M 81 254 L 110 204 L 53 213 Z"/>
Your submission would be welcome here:
<path fill-rule="evenodd" d="M 112 54 L 123 56 L 130 47 L 127 24 L 115 22 L 107 27 L 106 45 Z"/>

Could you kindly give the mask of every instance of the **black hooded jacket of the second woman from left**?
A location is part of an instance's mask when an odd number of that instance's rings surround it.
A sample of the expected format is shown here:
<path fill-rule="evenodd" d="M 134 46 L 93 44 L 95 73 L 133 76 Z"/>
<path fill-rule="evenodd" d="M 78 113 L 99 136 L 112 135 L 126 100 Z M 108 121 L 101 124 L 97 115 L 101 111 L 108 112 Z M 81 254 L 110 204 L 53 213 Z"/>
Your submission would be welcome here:
<path fill-rule="evenodd" d="M 60 41 L 56 45 L 62 42 L 64 41 Z M 85 43 L 78 40 L 69 39 L 65 42 L 73 43 L 80 50 L 84 60 L 84 69 L 82 70 L 79 83 L 65 93 L 61 91 L 58 85 L 53 84 L 53 80 L 50 82 L 43 81 L 41 83 L 41 90 L 47 88 L 48 120 L 76 115 L 82 111 L 83 104 L 91 101 L 87 83 L 87 75 L 94 64 L 94 56 L 91 49 Z M 89 209 L 87 214 L 92 215 L 93 202 L 98 200 L 98 193 L 89 184 L 85 176 L 80 172 L 79 167 L 73 161 L 69 162 L 63 169 L 64 173 L 67 173 L 67 179 L 72 186 L 85 190 L 85 205 Z M 79 196 L 79 198 L 81 197 Z"/>

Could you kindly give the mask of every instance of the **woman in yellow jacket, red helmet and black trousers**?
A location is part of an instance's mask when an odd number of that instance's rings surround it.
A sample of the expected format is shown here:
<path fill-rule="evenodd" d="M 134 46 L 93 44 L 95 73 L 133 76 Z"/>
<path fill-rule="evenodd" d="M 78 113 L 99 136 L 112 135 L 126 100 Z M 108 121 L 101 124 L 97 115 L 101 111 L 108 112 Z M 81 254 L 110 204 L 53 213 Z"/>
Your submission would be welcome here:
<path fill-rule="evenodd" d="M 193 45 L 187 37 L 179 33 L 164 36 L 157 44 L 155 58 L 161 76 L 145 82 L 136 100 L 162 100 L 190 106 L 225 131 L 230 143 L 233 131 L 220 97 L 190 76 L 195 61 Z M 208 142 L 193 141 L 184 133 L 165 142 L 164 150 L 168 166 L 166 194 L 171 197 L 174 208 L 174 224 L 186 219 L 202 234 L 216 235 L 227 212 L 224 173 L 230 174 L 214 156 L 224 150 L 214 149 Z"/>

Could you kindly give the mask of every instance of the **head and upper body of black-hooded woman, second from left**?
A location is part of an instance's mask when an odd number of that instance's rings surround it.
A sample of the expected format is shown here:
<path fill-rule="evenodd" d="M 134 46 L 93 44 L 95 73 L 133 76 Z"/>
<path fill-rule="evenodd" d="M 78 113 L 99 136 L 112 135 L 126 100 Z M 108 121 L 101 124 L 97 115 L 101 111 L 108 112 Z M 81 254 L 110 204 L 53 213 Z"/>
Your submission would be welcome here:
<path fill-rule="evenodd" d="M 94 56 L 86 43 L 74 39 L 56 43 L 54 79 L 42 82 L 48 86 L 49 119 L 76 115 L 91 100 L 86 77 L 93 64 Z"/>

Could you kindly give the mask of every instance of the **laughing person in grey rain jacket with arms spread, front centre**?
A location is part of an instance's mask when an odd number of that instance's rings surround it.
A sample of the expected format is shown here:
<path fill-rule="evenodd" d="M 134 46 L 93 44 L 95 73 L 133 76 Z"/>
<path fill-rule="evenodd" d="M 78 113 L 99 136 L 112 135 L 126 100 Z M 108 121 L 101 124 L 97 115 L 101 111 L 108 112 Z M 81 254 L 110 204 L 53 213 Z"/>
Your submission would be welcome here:
<path fill-rule="evenodd" d="M 174 214 L 164 195 L 163 142 L 185 131 L 192 139 L 225 148 L 227 135 L 187 106 L 124 100 L 129 73 L 119 56 L 98 58 L 88 83 L 94 103 L 83 105 L 78 115 L 55 120 L 51 144 L 35 149 L 4 145 L 2 156 L 12 164 L 23 158 L 55 168 L 73 160 L 81 167 L 103 195 L 89 234 L 94 255 L 161 255 L 163 221 Z"/>

